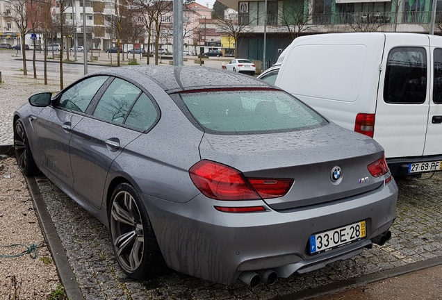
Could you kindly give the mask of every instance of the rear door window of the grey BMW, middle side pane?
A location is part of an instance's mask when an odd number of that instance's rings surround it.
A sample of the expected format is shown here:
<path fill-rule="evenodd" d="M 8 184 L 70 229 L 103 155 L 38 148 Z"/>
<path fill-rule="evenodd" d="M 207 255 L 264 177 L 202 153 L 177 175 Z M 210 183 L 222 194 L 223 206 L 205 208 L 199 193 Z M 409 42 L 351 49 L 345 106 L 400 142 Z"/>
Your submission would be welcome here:
<path fill-rule="evenodd" d="M 135 85 L 115 78 L 98 102 L 94 117 L 123 124 L 140 92 Z"/>

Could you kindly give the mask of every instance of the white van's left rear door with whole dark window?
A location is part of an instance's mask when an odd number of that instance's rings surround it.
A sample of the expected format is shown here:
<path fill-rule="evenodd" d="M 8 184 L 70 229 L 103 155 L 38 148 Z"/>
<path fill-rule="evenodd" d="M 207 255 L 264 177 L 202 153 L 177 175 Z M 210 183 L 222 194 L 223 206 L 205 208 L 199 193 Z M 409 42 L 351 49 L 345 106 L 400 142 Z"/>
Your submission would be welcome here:
<path fill-rule="evenodd" d="M 429 62 L 427 35 L 386 34 L 374 135 L 386 158 L 424 154 Z"/>

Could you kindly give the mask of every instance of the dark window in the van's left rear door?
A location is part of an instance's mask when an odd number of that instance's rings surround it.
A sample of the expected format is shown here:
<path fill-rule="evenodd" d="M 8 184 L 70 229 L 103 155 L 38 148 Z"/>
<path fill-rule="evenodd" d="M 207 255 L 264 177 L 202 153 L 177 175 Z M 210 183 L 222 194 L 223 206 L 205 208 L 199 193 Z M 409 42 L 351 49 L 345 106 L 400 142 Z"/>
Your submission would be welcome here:
<path fill-rule="evenodd" d="M 424 103 L 427 53 L 423 48 L 398 47 L 388 54 L 384 83 L 386 103 Z"/>

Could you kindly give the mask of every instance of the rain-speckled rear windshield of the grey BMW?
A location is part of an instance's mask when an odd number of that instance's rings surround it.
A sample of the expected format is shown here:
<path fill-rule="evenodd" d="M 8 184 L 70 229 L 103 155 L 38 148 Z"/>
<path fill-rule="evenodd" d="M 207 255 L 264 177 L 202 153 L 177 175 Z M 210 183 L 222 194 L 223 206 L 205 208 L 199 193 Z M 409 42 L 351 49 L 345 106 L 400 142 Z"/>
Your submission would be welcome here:
<path fill-rule="evenodd" d="M 326 122 L 309 106 L 279 90 L 193 92 L 181 94 L 181 100 L 192 119 L 213 133 L 294 131 Z"/>

